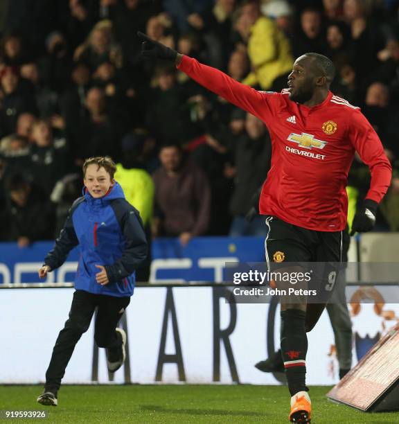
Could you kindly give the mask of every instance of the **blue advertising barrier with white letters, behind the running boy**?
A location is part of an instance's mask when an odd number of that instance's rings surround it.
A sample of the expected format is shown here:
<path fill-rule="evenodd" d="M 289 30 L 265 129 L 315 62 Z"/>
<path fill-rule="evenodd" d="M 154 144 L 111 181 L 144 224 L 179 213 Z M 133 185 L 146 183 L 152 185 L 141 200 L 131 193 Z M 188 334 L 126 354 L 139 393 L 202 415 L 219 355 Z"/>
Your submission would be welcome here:
<path fill-rule="evenodd" d="M 151 281 L 222 281 L 224 263 L 263 262 L 262 237 L 197 237 L 186 247 L 177 238 L 159 238 L 152 243 Z M 0 243 L 0 283 L 39 283 L 37 270 L 53 242 L 36 242 L 19 248 Z M 48 274 L 48 283 L 71 282 L 79 250 L 73 249 L 62 268 Z"/>

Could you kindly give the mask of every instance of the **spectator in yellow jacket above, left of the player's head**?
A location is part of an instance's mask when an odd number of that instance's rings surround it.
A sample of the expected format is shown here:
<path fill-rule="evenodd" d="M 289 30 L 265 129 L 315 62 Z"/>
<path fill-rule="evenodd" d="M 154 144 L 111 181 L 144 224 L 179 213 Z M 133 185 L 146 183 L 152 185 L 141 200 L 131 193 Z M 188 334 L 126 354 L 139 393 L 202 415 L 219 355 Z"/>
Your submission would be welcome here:
<path fill-rule="evenodd" d="M 258 1 L 242 6 L 238 25 L 241 35 L 247 28 L 248 55 L 252 71 L 242 82 L 270 89 L 273 81 L 292 69 L 294 58 L 290 42 L 275 22 L 261 14 Z"/>

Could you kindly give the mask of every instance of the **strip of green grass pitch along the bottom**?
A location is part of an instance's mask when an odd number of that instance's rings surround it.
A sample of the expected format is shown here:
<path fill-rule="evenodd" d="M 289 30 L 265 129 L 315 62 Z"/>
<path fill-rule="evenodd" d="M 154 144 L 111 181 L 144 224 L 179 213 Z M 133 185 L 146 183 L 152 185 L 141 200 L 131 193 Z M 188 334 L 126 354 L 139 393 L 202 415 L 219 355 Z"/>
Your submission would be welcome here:
<path fill-rule="evenodd" d="M 310 387 L 312 423 L 399 423 L 399 412 L 368 414 Z M 48 411 L 48 418 L 16 423 L 289 423 L 287 387 L 252 385 L 64 385 L 57 407 L 36 402 L 39 386 L 0 386 L 0 409 Z"/>

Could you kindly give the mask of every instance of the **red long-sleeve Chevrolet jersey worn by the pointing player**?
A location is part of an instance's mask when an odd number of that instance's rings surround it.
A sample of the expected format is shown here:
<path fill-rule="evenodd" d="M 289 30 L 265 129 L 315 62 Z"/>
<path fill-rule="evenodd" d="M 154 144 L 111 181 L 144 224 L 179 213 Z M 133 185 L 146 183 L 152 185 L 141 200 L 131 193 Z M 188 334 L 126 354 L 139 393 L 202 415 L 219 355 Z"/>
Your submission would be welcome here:
<path fill-rule="evenodd" d="M 346 182 L 355 151 L 371 171 L 367 199 L 380 202 L 391 182 L 391 164 L 381 141 L 358 107 L 330 91 L 307 107 L 281 93 L 257 91 L 225 73 L 183 56 L 178 69 L 233 105 L 257 116 L 272 138 L 272 166 L 259 210 L 317 231 L 346 225 Z"/>

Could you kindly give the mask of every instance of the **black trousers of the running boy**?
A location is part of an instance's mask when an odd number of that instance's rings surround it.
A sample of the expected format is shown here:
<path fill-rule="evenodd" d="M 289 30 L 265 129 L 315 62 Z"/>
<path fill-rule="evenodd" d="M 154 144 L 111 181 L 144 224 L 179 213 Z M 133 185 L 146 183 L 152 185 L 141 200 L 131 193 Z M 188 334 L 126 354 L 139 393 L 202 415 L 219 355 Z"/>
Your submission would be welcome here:
<path fill-rule="evenodd" d="M 111 349 L 121 346 L 121 338 L 118 337 L 115 328 L 129 303 L 130 297 L 105 296 L 83 290 L 76 290 L 73 293 L 69 319 L 57 337 L 46 371 L 46 390 L 60 389 L 73 349 L 82 334 L 88 330 L 96 308 L 98 308 L 94 331 L 96 343 L 99 347 Z"/>

